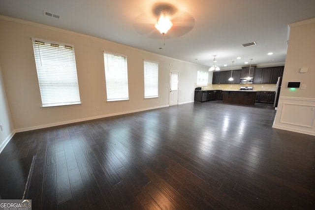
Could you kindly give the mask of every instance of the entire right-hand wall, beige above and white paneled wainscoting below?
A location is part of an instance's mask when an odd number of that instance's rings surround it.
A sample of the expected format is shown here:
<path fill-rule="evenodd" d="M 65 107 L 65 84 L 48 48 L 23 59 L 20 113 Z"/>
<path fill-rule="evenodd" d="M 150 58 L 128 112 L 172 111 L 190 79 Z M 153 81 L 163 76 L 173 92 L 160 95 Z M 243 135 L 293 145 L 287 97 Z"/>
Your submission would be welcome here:
<path fill-rule="evenodd" d="M 315 19 L 290 24 L 282 89 L 274 122 L 275 128 L 315 135 Z M 308 67 L 307 73 L 300 73 Z M 287 88 L 301 82 L 303 90 Z"/>

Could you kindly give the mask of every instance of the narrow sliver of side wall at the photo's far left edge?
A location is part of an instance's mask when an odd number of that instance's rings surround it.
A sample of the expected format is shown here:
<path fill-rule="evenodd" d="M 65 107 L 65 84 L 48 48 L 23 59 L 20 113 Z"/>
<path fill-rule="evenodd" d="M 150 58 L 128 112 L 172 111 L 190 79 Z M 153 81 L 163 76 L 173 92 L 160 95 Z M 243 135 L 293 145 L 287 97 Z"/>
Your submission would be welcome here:
<path fill-rule="evenodd" d="M 2 80 L 2 71 L 0 65 L 0 152 L 4 149 L 5 145 L 9 142 L 14 135 L 13 124 L 10 116 L 10 109 L 6 99 L 4 83 Z"/>

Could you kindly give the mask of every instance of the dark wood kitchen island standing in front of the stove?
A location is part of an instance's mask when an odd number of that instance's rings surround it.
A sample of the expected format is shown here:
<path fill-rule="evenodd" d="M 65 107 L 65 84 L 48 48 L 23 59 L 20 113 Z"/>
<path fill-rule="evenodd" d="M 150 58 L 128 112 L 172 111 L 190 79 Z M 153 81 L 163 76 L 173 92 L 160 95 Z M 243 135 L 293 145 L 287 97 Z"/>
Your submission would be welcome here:
<path fill-rule="evenodd" d="M 253 106 L 256 93 L 255 90 L 223 90 L 223 103 Z"/>

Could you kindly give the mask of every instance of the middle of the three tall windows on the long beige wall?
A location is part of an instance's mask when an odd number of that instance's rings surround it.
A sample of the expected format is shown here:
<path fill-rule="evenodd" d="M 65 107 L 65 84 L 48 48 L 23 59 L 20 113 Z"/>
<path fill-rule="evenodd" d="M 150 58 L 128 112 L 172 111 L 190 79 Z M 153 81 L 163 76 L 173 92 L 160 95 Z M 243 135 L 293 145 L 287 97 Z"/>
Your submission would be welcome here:
<path fill-rule="evenodd" d="M 107 101 L 128 100 L 127 58 L 104 52 Z"/>

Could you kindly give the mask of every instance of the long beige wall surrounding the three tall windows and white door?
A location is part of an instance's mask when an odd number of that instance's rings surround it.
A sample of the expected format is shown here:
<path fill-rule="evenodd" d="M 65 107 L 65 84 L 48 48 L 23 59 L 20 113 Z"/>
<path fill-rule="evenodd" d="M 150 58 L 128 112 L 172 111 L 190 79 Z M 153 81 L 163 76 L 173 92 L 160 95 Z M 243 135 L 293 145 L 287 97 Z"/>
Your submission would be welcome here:
<path fill-rule="evenodd" d="M 208 69 L 84 34 L 4 16 L 0 16 L 0 29 L 0 62 L 17 132 L 168 106 L 169 70 L 180 72 L 179 104 L 192 102 L 197 69 Z M 41 108 L 32 37 L 74 45 L 81 105 Z M 103 51 L 127 56 L 130 100 L 106 102 Z M 159 62 L 158 98 L 144 99 L 143 60 Z"/>

